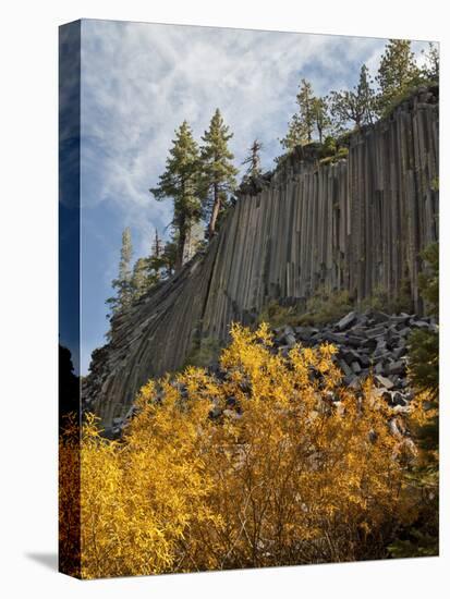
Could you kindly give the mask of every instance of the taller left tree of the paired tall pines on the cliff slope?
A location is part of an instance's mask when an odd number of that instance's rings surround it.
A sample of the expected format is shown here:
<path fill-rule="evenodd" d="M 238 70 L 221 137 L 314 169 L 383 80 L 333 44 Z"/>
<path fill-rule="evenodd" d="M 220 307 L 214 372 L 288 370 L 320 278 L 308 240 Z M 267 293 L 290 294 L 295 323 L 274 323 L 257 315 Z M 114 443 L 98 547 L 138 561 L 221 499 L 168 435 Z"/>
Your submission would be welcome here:
<path fill-rule="evenodd" d="M 183 265 L 184 246 L 188 231 L 200 219 L 198 197 L 199 154 L 198 146 L 186 121 L 175 131 L 172 148 L 166 161 L 166 171 L 158 186 L 150 190 L 157 200 L 173 199 L 172 228 L 177 235 L 175 270 Z"/>

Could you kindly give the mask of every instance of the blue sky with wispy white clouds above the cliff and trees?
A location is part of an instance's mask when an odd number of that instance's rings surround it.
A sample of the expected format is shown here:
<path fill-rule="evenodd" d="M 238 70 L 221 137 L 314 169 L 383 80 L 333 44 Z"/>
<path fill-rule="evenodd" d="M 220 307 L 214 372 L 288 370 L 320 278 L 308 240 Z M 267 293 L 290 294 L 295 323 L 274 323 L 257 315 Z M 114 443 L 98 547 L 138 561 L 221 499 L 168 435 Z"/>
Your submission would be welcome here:
<path fill-rule="evenodd" d="M 171 203 L 148 188 L 163 172 L 174 130 L 196 139 L 216 108 L 233 132 L 239 167 L 255 138 L 264 169 L 295 111 L 301 78 L 315 94 L 353 87 L 366 63 L 375 74 L 386 40 L 248 29 L 83 20 L 81 28 L 81 372 L 105 344 L 106 300 L 117 276 L 121 235 L 134 258 L 155 228 L 168 236 Z M 414 42 L 419 53 L 426 44 Z"/>

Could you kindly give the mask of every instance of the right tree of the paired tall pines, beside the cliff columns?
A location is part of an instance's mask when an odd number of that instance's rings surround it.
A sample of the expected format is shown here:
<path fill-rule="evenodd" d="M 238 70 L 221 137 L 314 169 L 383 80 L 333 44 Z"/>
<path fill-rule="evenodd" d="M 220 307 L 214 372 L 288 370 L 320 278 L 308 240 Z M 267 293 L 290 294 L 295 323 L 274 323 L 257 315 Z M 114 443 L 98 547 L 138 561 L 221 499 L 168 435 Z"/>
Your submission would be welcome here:
<path fill-rule="evenodd" d="M 208 236 L 216 231 L 217 220 L 226 207 L 228 195 L 235 188 L 238 169 L 232 160 L 233 154 L 228 142 L 233 136 L 224 124 L 220 110 L 217 109 L 208 131 L 202 137 L 202 194 L 204 216 L 208 219 Z"/>

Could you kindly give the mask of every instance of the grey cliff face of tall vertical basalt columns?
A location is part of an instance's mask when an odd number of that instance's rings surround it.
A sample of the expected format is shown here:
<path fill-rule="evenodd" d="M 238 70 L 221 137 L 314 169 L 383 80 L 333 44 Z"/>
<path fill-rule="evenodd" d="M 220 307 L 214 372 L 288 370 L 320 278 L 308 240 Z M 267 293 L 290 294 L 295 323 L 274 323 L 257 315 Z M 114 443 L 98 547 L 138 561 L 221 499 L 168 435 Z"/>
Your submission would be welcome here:
<path fill-rule="evenodd" d="M 302 302 L 324 288 L 356 302 L 411 282 L 421 311 L 419 252 L 438 239 L 438 103 L 423 90 L 354 134 L 349 157 L 318 164 L 299 148 L 254 195 L 242 195 L 220 233 L 170 281 L 113 323 L 84 386 L 109 425 L 151 376 L 181 367 L 202 338 L 223 341 L 270 300 Z"/>

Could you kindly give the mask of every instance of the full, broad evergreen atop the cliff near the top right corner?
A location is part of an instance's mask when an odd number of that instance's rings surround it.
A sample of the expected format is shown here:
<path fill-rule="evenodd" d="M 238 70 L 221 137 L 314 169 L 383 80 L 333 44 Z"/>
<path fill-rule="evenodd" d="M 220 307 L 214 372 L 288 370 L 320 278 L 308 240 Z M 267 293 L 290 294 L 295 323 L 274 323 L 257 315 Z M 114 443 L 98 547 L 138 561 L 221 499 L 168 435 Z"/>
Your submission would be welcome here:
<path fill-rule="evenodd" d="M 421 81 L 421 72 L 408 39 L 390 39 L 381 57 L 378 75 L 378 110 L 389 112 L 396 99 Z"/>

